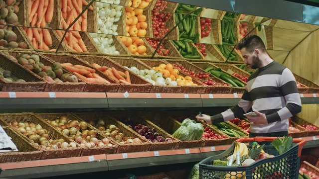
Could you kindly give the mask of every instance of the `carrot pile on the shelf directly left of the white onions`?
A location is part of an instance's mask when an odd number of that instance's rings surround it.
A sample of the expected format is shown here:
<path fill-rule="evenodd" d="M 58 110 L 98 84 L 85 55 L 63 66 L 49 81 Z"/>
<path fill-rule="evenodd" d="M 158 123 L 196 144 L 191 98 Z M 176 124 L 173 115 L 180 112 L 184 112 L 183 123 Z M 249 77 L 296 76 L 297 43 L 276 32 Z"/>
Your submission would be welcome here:
<path fill-rule="evenodd" d="M 98 69 L 99 71 L 103 72 L 105 75 L 107 75 L 110 79 L 117 83 L 122 84 L 131 84 L 131 78 L 129 71 L 121 72 L 116 70 L 114 67 L 109 68 L 107 66 L 100 66 L 99 64 L 93 63 L 90 64 L 92 67 Z"/>

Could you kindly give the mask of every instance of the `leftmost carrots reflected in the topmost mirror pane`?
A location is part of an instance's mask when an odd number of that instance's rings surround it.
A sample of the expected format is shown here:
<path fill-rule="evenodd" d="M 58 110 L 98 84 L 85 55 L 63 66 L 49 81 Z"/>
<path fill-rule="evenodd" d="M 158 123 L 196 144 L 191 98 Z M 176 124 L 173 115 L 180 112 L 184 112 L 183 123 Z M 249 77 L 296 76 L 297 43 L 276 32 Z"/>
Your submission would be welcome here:
<path fill-rule="evenodd" d="M 54 11 L 54 0 L 28 0 L 28 18 L 31 27 L 46 27 L 51 23 Z"/>

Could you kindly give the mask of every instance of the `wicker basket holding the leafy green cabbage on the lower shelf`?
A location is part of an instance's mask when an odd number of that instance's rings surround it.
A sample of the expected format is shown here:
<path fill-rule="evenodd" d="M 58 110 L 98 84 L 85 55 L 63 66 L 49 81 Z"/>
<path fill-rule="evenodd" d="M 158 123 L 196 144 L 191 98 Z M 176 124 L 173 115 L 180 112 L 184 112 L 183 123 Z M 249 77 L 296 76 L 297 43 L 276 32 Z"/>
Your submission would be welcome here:
<path fill-rule="evenodd" d="M 145 120 L 149 120 L 159 126 L 161 129 L 165 130 L 168 134 L 172 135 L 181 125 L 180 122 L 176 121 L 173 118 L 162 116 L 159 113 L 154 115 L 153 118 L 148 118 L 142 116 Z M 168 118 L 168 119 L 167 119 Z M 178 139 L 177 139 L 178 140 Z M 194 148 L 194 147 L 203 147 L 205 144 L 205 140 L 188 140 L 188 141 L 179 141 L 178 148 Z"/>

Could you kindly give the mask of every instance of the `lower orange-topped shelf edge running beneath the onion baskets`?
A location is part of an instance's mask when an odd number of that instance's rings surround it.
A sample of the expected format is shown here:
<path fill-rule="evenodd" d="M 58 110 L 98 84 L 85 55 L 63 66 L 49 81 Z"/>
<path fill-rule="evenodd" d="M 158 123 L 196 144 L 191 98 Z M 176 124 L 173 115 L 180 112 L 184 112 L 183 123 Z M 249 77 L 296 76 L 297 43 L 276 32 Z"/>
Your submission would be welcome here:
<path fill-rule="evenodd" d="M 303 137 L 307 140 L 304 148 L 319 145 L 319 136 Z M 112 171 L 128 168 L 151 167 L 167 164 L 198 162 L 217 155 L 230 145 L 190 149 L 148 151 L 123 154 L 94 155 L 63 159 L 48 159 L 29 162 L 0 164 L 0 178 L 41 178 L 87 172 Z"/>

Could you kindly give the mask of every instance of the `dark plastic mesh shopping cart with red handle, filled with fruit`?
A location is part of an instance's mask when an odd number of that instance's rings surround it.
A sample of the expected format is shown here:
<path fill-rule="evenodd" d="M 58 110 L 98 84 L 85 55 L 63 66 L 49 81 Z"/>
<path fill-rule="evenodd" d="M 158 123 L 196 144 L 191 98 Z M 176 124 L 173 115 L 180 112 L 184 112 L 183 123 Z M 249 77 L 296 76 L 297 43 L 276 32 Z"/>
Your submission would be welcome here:
<path fill-rule="evenodd" d="M 241 138 L 236 142 L 272 142 L 277 137 Z M 214 160 L 227 160 L 233 154 L 234 143 L 223 153 L 199 162 L 200 179 L 298 179 L 300 156 L 306 140 L 293 139 L 293 147 L 279 155 L 273 146 L 265 146 L 264 151 L 274 158 L 258 160 L 249 166 L 214 166 Z M 251 148 L 250 145 L 247 146 Z"/>

